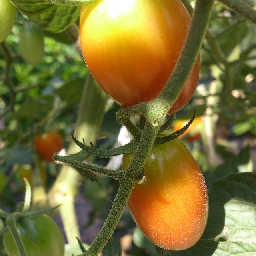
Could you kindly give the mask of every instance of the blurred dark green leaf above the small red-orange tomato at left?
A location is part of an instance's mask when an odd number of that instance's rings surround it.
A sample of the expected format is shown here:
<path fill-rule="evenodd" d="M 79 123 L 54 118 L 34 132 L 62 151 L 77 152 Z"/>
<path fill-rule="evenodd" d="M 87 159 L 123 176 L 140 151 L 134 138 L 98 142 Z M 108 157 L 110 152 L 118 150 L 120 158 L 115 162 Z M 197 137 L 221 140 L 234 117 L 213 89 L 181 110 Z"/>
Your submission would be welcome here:
<path fill-rule="evenodd" d="M 27 98 L 18 111 L 14 112 L 10 119 L 35 119 L 40 114 L 52 110 L 54 97 L 42 95 L 38 98 Z"/>

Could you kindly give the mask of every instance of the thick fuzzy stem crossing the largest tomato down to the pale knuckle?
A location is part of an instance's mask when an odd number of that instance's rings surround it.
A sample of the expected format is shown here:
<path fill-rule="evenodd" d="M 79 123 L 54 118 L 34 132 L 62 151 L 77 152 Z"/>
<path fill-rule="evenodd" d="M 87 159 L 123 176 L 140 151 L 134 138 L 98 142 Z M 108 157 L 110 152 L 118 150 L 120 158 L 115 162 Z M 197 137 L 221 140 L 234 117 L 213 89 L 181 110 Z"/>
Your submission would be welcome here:
<path fill-rule="evenodd" d="M 196 1 L 190 28 L 174 70 L 158 98 L 149 102 L 151 107 L 148 108 L 150 110 L 148 116 L 150 118 L 156 118 L 159 115 L 163 116 L 178 98 L 182 85 L 196 62 L 208 27 L 213 4 L 213 0 Z"/>

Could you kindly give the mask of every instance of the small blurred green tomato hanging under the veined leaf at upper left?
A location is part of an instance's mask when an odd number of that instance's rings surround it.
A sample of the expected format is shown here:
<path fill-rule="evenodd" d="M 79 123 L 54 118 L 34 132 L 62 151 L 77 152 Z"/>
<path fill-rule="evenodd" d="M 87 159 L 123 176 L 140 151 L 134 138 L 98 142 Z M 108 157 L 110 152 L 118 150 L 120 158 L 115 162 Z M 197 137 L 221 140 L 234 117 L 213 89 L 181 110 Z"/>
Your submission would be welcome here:
<path fill-rule="evenodd" d="M 19 41 L 22 58 L 31 65 L 37 65 L 44 56 L 44 36 L 35 23 L 24 24 Z"/>

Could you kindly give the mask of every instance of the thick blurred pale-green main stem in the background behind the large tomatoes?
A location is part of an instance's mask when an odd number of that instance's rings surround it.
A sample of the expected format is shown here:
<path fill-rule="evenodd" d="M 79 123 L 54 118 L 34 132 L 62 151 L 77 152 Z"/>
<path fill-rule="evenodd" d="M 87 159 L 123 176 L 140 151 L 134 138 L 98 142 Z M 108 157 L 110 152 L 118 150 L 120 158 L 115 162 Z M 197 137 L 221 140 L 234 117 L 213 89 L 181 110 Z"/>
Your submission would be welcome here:
<path fill-rule="evenodd" d="M 90 144 L 90 141 L 93 143 L 96 141 L 107 98 L 107 95 L 94 82 L 88 72 L 75 125 L 76 135 L 80 140 L 84 138 L 86 144 Z M 95 118 L 96 116 L 97 118 Z M 78 150 L 78 146 L 73 141 L 70 142 L 68 154 L 73 154 Z M 61 204 L 59 211 L 70 244 L 77 244 L 76 237 L 80 238 L 74 200 L 82 179 L 82 176 L 76 170 L 68 165 L 63 165 L 54 185 L 48 192 L 46 201 L 40 205 L 40 207 L 48 208 Z"/>

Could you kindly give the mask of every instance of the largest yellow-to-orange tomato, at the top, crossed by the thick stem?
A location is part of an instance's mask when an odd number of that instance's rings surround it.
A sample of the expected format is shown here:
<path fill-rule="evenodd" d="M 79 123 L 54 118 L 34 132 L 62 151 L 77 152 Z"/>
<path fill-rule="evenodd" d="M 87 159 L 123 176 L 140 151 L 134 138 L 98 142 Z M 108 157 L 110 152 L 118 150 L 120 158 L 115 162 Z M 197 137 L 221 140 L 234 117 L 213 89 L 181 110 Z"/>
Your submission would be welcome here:
<path fill-rule="evenodd" d="M 150 101 L 165 86 L 190 26 L 180 0 L 98 0 L 82 6 L 84 60 L 102 89 L 123 107 Z M 200 60 L 169 114 L 183 108 L 198 82 Z"/>

